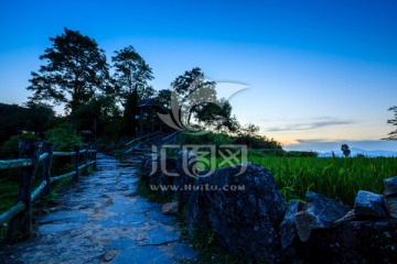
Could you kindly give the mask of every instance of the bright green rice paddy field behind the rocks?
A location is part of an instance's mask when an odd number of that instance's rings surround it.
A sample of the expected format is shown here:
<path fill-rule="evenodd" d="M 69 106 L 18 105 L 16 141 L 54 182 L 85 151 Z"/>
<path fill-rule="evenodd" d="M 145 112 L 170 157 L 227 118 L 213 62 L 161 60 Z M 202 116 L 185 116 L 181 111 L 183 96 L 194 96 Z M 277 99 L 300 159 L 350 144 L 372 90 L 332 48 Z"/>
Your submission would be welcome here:
<path fill-rule="evenodd" d="M 382 194 L 384 179 L 397 176 L 397 157 L 248 156 L 248 161 L 268 168 L 288 200 L 303 200 L 312 190 L 353 205 L 358 190 Z"/>

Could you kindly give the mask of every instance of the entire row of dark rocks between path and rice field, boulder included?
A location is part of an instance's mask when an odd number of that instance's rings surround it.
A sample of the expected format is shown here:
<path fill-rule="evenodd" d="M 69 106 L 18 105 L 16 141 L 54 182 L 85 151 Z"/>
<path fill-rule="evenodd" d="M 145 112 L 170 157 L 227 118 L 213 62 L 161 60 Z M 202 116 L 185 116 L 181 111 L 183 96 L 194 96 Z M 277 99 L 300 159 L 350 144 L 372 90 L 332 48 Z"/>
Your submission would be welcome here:
<path fill-rule="evenodd" d="M 160 162 L 147 162 L 142 172 L 148 184 L 178 186 L 190 234 L 215 234 L 246 262 L 397 263 L 397 177 L 385 179 L 383 196 L 358 191 L 353 209 L 309 191 L 305 202 L 290 201 L 286 210 L 273 176 L 258 165 L 197 172 L 195 154 L 181 152 L 178 161 L 163 161 L 179 174 L 170 182 Z"/>

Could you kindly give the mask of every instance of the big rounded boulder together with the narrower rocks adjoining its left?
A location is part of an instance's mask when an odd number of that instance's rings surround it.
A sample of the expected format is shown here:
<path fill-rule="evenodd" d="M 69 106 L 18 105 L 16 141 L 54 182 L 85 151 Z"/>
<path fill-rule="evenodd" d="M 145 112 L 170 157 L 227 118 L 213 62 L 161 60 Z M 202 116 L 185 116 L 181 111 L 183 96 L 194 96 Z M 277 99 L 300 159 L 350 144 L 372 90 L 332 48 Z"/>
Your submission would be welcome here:
<path fill-rule="evenodd" d="M 205 176 L 208 173 L 195 172 L 194 164 L 193 153 L 180 153 L 180 197 L 189 230 L 212 230 L 221 246 L 246 260 L 280 260 L 279 226 L 286 205 L 272 174 L 248 163 Z"/>

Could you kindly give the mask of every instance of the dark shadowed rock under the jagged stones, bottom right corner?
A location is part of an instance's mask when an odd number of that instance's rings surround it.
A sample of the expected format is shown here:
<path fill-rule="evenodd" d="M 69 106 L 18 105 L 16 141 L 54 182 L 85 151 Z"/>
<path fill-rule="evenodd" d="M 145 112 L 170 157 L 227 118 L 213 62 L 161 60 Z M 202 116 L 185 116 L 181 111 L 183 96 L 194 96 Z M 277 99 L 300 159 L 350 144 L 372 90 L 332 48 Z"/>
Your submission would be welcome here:
<path fill-rule="evenodd" d="M 344 221 L 312 230 L 283 251 L 286 263 L 397 263 L 397 219 Z"/>

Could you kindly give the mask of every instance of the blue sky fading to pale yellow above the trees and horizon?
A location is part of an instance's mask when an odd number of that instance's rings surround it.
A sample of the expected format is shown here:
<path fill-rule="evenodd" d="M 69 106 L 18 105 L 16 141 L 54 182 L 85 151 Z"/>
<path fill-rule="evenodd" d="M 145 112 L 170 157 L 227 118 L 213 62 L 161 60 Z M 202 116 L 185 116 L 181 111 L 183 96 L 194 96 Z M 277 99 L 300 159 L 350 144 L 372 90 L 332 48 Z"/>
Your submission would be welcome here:
<path fill-rule="evenodd" d="M 49 37 L 67 26 L 108 56 L 133 45 L 157 89 L 195 66 L 249 86 L 230 99 L 234 113 L 287 148 L 397 150 L 378 142 L 394 129 L 386 120 L 397 105 L 396 13 L 397 2 L 375 0 L 2 0 L 0 101 L 26 100 Z"/>

